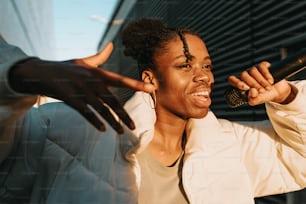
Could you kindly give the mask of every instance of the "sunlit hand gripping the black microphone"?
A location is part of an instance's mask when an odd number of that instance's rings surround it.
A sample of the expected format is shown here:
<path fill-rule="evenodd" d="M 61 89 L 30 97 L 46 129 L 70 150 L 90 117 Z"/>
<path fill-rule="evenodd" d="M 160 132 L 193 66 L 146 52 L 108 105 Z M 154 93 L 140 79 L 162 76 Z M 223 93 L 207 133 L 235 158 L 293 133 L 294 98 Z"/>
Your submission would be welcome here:
<path fill-rule="evenodd" d="M 293 97 L 292 87 L 286 80 L 274 84 L 273 76 L 269 71 L 270 63 L 261 62 L 249 70 L 243 71 L 240 77 L 234 75 L 228 78 L 229 83 L 244 91 L 248 91 L 248 103 L 252 106 L 268 101 L 289 103 Z"/>

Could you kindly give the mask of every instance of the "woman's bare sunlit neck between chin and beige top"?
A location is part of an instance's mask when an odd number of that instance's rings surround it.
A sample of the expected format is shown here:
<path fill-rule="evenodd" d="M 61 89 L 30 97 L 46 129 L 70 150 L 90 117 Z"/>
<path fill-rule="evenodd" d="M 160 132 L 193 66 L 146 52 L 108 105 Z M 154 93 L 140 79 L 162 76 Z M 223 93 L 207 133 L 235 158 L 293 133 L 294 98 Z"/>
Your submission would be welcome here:
<path fill-rule="evenodd" d="M 149 152 L 165 166 L 172 165 L 182 154 L 182 138 L 187 121 L 179 117 L 158 117 Z"/>

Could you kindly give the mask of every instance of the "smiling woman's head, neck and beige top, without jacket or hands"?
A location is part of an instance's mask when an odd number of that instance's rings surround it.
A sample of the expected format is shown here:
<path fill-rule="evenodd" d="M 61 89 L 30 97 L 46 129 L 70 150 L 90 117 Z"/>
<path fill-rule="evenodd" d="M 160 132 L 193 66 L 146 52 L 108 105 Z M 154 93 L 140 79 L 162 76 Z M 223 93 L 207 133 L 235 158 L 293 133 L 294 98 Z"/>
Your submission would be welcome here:
<path fill-rule="evenodd" d="M 211 104 L 214 77 L 207 48 L 191 30 L 167 28 L 151 19 L 130 23 L 122 37 L 125 54 L 138 61 L 142 80 L 155 87 L 154 135 L 138 155 L 142 172 L 139 203 L 148 203 L 147 198 L 149 203 L 188 203 L 177 175 L 188 119 L 205 117 Z M 171 186 L 167 190 L 171 196 L 164 196 L 167 186 Z"/>

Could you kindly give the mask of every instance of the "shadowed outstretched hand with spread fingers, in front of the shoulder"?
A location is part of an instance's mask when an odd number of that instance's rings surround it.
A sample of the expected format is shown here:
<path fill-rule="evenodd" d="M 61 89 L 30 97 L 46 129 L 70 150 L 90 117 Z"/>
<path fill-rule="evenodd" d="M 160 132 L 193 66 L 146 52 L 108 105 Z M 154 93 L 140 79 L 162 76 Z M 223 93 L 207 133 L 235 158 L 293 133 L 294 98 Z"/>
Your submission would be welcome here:
<path fill-rule="evenodd" d="M 105 130 L 105 125 L 100 116 L 122 133 L 123 127 L 112 112 L 130 129 L 134 129 L 135 125 L 108 88 L 125 87 L 152 92 L 154 87 L 97 68 L 105 63 L 112 50 L 113 45 L 109 43 L 96 55 L 82 59 L 54 62 L 32 58 L 17 63 L 9 73 L 9 81 L 18 92 L 45 95 L 65 102 L 101 131 Z"/>

